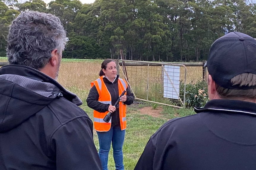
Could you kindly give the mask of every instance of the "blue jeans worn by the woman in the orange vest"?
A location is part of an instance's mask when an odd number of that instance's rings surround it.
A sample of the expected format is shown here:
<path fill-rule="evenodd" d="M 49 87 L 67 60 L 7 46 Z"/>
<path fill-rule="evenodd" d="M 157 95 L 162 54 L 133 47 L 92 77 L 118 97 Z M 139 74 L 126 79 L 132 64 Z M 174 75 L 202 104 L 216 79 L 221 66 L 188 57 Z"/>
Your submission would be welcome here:
<path fill-rule="evenodd" d="M 111 127 L 108 132 L 97 132 L 99 138 L 99 159 L 102 169 L 108 170 L 108 153 L 112 141 L 113 157 L 116 170 L 124 170 L 123 164 L 123 144 L 125 130 L 120 127 Z"/>

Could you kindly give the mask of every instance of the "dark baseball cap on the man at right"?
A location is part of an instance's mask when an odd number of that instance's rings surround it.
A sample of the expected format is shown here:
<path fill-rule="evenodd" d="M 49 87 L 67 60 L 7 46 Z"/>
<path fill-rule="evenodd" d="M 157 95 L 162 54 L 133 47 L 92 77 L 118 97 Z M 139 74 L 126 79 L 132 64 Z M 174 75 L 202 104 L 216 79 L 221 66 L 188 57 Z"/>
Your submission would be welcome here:
<path fill-rule="evenodd" d="M 233 77 L 242 73 L 256 74 L 256 40 L 238 32 L 218 38 L 211 45 L 205 66 L 212 79 L 223 88 L 256 88 L 232 85 L 230 82 Z"/>

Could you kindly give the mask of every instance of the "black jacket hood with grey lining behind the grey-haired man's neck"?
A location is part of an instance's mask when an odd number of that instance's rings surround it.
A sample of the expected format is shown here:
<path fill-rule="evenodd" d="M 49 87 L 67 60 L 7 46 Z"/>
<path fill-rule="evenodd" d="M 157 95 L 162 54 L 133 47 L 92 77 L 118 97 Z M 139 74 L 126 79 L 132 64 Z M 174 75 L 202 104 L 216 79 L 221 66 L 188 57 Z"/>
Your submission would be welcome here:
<path fill-rule="evenodd" d="M 82 104 L 57 81 L 26 66 L 1 67 L 0 87 L 0 133 L 17 127 L 57 98 Z"/>

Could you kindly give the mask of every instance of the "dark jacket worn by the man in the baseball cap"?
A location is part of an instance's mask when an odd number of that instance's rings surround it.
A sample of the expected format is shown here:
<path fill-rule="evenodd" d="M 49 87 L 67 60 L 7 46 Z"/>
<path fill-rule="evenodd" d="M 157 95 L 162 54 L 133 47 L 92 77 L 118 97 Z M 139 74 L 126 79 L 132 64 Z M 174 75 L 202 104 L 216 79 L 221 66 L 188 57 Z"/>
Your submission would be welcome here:
<path fill-rule="evenodd" d="M 255 170 L 256 104 L 211 100 L 171 119 L 148 141 L 135 170 Z"/>

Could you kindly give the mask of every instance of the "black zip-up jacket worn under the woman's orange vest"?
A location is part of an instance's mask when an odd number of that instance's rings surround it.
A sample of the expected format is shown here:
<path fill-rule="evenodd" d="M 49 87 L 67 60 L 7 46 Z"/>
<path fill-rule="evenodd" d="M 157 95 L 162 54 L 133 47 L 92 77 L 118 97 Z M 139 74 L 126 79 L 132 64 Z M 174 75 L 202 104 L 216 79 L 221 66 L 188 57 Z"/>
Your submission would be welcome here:
<path fill-rule="evenodd" d="M 108 91 L 111 95 L 111 104 L 112 105 L 114 105 L 116 103 L 116 101 L 119 97 L 118 77 L 119 77 L 119 75 L 116 76 L 116 79 L 114 80 L 114 82 L 110 82 L 106 77 L 103 77 L 103 81 L 104 81 L 105 85 L 107 86 Z M 134 101 L 134 96 L 133 96 L 133 93 L 131 92 L 131 90 L 129 89 L 129 87 L 127 87 L 126 93 L 127 93 L 126 94 L 127 99 L 124 102 L 124 104 L 130 105 Z M 95 85 L 93 85 L 89 92 L 89 95 L 86 99 L 87 106 L 90 107 L 91 109 L 98 111 L 98 112 L 108 111 L 109 104 L 100 103 L 100 102 L 98 102 L 98 99 L 99 99 L 98 91 L 97 91 Z M 116 107 L 116 111 L 114 111 L 112 114 L 111 127 L 114 127 L 114 126 L 120 127 L 118 106 Z"/>

